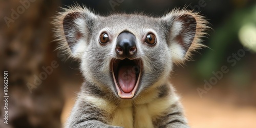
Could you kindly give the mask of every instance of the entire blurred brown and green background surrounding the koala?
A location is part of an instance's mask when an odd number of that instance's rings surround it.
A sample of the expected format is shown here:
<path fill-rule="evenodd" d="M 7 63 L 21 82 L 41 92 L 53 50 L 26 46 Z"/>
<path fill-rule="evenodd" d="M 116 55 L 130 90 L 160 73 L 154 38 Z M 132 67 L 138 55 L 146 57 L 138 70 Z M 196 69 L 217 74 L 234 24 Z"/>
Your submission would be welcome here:
<path fill-rule="evenodd" d="M 0 127 L 62 127 L 83 81 L 78 63 L 55 50 L 52 25 L 59 7 L 86 5 L 99 14 L 174 8 L 200 12 L 212 28 L 208 48 L 175 66 L 170 81 L 191 127 L 256 127 L 256 2 L 254 0 L 2 0 L 0 82 L 8 71 L 8 124 L 0 88 Z M 39 79 L 41 78 L 41 79 Z"/>

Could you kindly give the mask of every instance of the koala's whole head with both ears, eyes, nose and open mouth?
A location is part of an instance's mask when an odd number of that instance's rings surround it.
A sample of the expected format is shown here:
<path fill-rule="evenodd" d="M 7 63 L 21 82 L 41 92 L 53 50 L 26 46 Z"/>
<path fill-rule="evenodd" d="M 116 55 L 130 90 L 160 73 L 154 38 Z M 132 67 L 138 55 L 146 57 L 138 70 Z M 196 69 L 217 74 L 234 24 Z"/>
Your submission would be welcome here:
<path fill-rule="evenodd" d="M 88 9 L 72 9 L 62 14 L 60 32 L 73 57 L 80 59 L 87 81 L 132 99 L 165 82 L 173 63 L 184 59 L 197 29 L 190 13 L 103 17 Z"/>

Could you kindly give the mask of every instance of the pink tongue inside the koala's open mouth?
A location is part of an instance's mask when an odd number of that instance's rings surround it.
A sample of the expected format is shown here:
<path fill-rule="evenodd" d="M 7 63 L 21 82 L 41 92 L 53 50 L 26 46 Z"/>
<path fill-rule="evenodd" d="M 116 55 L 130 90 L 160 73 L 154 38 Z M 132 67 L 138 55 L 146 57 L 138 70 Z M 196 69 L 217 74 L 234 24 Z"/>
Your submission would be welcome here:
<path fill-rule="evenodd" d="M 136 84 L 136 74 L 132 66 L 122 66 L 118 71 L 118 83 L 125 93 L 132 92 Z"/>

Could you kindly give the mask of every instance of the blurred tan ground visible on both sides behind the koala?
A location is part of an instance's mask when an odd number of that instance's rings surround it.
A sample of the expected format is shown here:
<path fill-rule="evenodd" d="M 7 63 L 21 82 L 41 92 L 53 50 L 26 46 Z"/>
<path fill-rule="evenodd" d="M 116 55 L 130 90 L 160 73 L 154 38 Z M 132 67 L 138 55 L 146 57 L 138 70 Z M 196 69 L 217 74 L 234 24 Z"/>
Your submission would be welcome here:
<path fill-rule="evenodd" d="M 178 68 L 173 73 L 172 83 L 181 96 L 185 115 L 192 128 L 255 128 L 256 105 L 255 97 L 240 97 L 239 94 L 223 91 L 221 80 L 217 87 L 213 87 L 200 98 L 193 80 L 187 74 L 186 68 Z M 174 75 L 175 74 L 175 75 Z M 80 90 L 81 81 L 63 82 L 66 103 L 61 115 L 62 123 L 74 104 L 76 93 Z M 198 86 L 198 87 L 203 87 Z M 256 92 L 254 90 L 254 92 Z"/>

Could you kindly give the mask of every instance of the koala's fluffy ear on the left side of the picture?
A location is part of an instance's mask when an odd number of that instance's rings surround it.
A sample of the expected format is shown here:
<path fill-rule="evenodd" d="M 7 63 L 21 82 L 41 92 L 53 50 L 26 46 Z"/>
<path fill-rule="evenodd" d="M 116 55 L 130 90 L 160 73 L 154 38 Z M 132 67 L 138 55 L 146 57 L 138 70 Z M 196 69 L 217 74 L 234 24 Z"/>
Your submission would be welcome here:
<path fill-rule="evenodd" d="M 55 36 L 60 42 L 59 49 L 65 50 L 71 57 L 81 58 L 96 18 L 97 15 L 85 7 L 71 7 L 59 13 L 53 23 Z"/>

